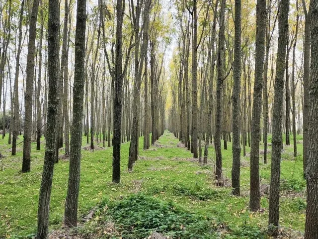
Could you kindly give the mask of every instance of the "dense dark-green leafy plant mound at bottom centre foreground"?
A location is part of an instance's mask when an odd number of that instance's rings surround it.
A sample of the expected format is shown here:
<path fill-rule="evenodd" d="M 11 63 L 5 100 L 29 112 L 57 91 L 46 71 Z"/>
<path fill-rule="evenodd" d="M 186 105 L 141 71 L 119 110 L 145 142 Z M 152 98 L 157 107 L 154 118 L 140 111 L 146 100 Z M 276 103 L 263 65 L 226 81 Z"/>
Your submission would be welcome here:
<path fill-rule="evenodd" d="M 112 217 L 125 239 L 147 238 L 153 231 L 173 238 L 204 238 L 212 231 L 204 217 L 144 194 L 132 195 L 108 207 L 107 216 Z"/>

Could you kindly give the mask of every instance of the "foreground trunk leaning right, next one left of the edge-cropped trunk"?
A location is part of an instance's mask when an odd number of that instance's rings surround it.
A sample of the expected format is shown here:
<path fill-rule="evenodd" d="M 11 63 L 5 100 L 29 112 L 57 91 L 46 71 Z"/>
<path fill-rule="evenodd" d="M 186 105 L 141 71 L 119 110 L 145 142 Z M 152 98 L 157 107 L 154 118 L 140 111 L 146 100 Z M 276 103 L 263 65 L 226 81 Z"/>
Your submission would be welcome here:
<path fill-rule="evenodd" d="M 272 163 L 269 194 L 269 230 L 268 234 L 276 236 L 279 227 L 279 186 L 280 160 L 282 149 L 282 122 L 284 102 L 284 64 L 286 61 L 286 47 L 288 47 L 288 12 L 289 0 L 281 0 L 278 17 L 278 48 L 276 60 L 276 76 L 274 85 L 273 106 L 273 136 L 272 136 Z"/>

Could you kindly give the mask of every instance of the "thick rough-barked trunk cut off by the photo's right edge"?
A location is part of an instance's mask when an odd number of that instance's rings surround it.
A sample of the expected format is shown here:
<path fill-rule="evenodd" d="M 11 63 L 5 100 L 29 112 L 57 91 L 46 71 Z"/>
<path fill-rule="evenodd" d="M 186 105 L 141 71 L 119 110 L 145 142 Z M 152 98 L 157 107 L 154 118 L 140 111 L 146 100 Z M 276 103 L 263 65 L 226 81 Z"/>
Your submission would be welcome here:
<path fill-rule="evenodd" d="M 309 116 L 307 149 L 307 209 L 305 239 L 318 238 L 318 0 L 310 1 L 311 76 L 309 82 Z M 305 146 L 305 145 L 304 145 Z"/>

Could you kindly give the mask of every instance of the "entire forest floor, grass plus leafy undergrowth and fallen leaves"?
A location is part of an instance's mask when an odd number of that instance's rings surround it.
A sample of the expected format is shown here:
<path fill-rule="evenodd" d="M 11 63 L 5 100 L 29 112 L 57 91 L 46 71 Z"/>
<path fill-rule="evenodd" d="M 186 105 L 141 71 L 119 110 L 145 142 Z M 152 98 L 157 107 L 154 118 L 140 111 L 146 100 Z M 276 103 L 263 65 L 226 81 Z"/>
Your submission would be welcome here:
<path fill-rule="evenodd" d="M 19 138 L 21 141 L 23 137 Z M 292 146 L 284 145 L 282 153 L 281 238 L 303 238 L 305 227 L 302 135 L 297 139 L 299 156 L 293 157 Z M 44 138 L 42 141 L 44 144 Z M 83 137 L 83 146 L 85 141 Z M 209 150 L 212 159 L 203 165 L 193 159 L 186 148 L 178 147 L 178 139 L 168 131 L 147 151 L 143 150 L 143 137 L 139 142 L 140 156 L 133 172 L 127 171 L 129 142 L 122 144 L 120 184 L 111 183 L 112 148 L 94 152 L 82 150 L 81 223 L 72 232 L 62 227 L 69 161 L 61 159 L 55 165 L 50 206 L 51 239 L 147 238 L 151 231 L 163 232 L 172 238 L 267 238 L 264 235 L 268 226 L 268 196 L 262 196 L 259 212 L 248 210 L 249 147 L 246 147 L 246 157 L 241 156 L 242 196 L 234 197 L 230 186 L 231 142 L 227 150 L 222 150 L 223 173 L 229 179 L 227 187 L 215 186 L 213 145 Z M 41 150 L 36 151 L 36 143 L 32 143 L 31 172 L 22 174 L 22 144 L 17 146 L 17 155 L 12 157 L 7 137 L 0 139 L 0 152 L 4 155 L 0 162 L 0 239 L 32 238 L 36 233 L 43 144 Z M 100 142 L 96 144 L 102 146 Z M 262 151 L 260 153 L 262 161 Z M 261 185 L 270 181 L 270 156 L 269 153 L 268 164 L 260 162 Z M 82 223 L 83 219 L 88 222 Z"/>

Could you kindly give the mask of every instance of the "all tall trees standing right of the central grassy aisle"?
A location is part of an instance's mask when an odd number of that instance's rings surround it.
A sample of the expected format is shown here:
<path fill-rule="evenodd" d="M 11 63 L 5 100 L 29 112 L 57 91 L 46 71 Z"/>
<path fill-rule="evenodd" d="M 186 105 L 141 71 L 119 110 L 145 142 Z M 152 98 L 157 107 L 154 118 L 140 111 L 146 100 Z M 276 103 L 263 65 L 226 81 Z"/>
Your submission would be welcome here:
<path fill-rule="evenodd" d="M 310 49 L 315 44 L 311 37 L 317 28 L 312 20 L 317 2 L 257 0 L 256 19 L 250 1 L 181 0 L 175 4 L 180 30 L 170 64 L 169 130 L 199 162 L 215 160 L 219 186 L 225 181 L 221 139 L 224 149 L 233 141 L 232 187 L 236 196 L 240 195 L 241 147 L 244 156 L 250 147 L 251 211 L 260 210 L 260 144 L 264 145 L 262 160 L 266 164 L 268 133 L 272 133 L 268 222 L 272 236 L 279 229 L 283 134 L 286 145 L 293 144 L 296 157 L 296 136 L 303 132 L 308 182 L 305 238 L 317 238 L 317 208 L 312 204 L 317 198 L 312 182 L 318 172 L 312 148 L 317 137 L 309 136 L 317 121 L 313 72 L 317 66 L 314 49 Z M 210 143 L 215 158 L 209 152 Z"/>

